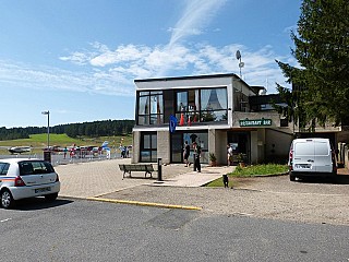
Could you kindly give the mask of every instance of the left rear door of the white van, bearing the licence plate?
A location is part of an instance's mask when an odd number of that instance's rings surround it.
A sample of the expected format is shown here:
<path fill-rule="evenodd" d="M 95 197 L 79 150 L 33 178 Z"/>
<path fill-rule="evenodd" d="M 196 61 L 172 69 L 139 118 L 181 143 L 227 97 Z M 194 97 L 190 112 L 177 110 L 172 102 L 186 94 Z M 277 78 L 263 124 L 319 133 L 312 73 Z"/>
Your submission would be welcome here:
<path fill-rule="evenodd" d="M 313 140 L 294 140 L 293 171 L 314 172 L 315 146 Z"/>

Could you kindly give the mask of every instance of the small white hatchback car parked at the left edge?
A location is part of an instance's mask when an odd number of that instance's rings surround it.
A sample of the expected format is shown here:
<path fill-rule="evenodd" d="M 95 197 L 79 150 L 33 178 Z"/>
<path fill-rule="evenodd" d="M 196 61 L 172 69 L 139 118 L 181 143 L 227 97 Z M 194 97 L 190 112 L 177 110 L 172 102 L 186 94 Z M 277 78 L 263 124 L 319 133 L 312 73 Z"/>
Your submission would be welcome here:
<path fill-rule="evenodd" d="M 16 200 L 44 195 L 53 201 L 60 181 L 52 165 L 40 159 L 0 159 L 1 206 L 13 207 Z"/>

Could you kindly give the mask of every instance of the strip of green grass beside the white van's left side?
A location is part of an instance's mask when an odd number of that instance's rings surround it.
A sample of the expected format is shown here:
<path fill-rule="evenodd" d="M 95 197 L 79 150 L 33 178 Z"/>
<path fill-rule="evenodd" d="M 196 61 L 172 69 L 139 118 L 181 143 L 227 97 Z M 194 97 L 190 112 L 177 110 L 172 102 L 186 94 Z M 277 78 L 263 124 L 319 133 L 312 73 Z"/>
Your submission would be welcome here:
<path fill-rule="evenodd" d="M 248 167 L 237 166 L 233 172 L 228 174 L 229 177 L 229 187 L 233 186 L 234 177 L 263 177 L 263 176 L 276 176 L 280 174 L 286 174 L 288 171 L 287 165 L 277 165 L 277 164 L 266 164 L 266 165 L 255 165 Z M 218 178 L 206 187 L 224 187 L 222 178 Z"/>

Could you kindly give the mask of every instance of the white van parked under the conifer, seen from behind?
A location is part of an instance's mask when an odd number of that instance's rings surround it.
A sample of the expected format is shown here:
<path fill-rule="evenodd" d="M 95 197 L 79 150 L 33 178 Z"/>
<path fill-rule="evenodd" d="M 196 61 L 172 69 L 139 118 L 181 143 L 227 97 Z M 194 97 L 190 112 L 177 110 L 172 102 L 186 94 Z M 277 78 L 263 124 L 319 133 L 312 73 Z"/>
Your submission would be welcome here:
<path fill-rule="evenodd" d="M 305 176 L 335 176 L 335 151 L 328 139 L 296 139 L 289 155 L 290 180 Z"/>

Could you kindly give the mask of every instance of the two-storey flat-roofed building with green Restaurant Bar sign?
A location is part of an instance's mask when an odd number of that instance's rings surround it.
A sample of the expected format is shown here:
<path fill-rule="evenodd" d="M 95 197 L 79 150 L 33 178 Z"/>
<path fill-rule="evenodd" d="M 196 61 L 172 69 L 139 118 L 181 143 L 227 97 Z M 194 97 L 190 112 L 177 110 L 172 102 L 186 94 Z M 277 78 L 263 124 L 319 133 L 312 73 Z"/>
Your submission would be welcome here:
<path fill-rule="evenodd" d="M 273 110 L 277 95 L 238 75 L 213 74 L 135 80 L 132 163 L 182 163 L 185 141 L 227 165 L 227 144 L 250 164 L 287 159 L 294 124 Z M 191 159 L 192 154 L 190 156 Z"/>

